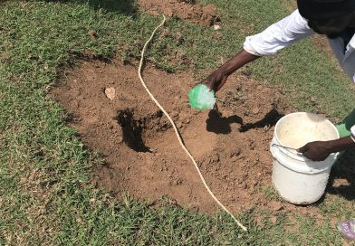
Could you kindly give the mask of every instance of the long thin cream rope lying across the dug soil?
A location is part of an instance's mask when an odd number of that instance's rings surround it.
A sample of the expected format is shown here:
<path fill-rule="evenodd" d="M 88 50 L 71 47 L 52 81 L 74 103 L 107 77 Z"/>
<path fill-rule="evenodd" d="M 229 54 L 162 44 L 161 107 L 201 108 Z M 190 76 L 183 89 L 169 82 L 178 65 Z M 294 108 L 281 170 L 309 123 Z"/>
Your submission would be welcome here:
<path fill-rule="evenodd" d="M 144 53 L 146 52 L 146 49 L 147 49 L 147 46 L 148 44 L 150 43 L 150 41 L 153 39 L 153 36 L 154 34 L 157 32 L 157 30 L 163 25 L 165 24 L 165 21 L 166 21 L 166 17 L 165 15 L 163 14 L 163 21 L 161 22 L 161 24 L 158 24 L 158 26 L 156 27 L 156 29 L 154 29 L 153 33 L 151 33 L 151 36 L 149 38 L 149 40 L 147 41 L 147 43 L 144 44 L 144 47 L 143 47 L 143 50 L 141 52 L 141 57 L 140 57 L 140 62 L 139 62 L 139 70 L 138 70 L 138 75 L 139 75 L 139 80 L 140 82 L 142 83 L 143 87 L 145 90 L 147 90 L 148 94 L 149 94 L 149 97 L 157 104 L 158 108 L 163 111 L 163 113 L 165 114 L 165 116 L 168 118 L 168 120 L 170 121 L 171 125 L 173 126 L 174 130 L 175 130 L 175 133 L 177 135 L 177 140 L 178 142 L 180 143 L 181 147 L 185 150 L 185 152 L 187 153 L 187 156 L 190 157 L 191 161 L 194 163 L 195 167 L 196 167 L 196 170 L 197 170 L 197 173 L 198 175 L 200 176 L 201 180 L 202 180 L 202 183 L 205 185 L 206 187 L 206 190 L 208 191 L 208 193 L 212 196 L 212 198 L 216 201 L 216 203 L 226 212 L 228 213 L 232 218 L 233 220 L 236 222 L 236 224 L 238 226 L 240 226 L 245 232 L 247 231 L 247 229 L 245 228 L 245 226 L 239 222 L 237 219 L 235 219 L 235 216 L 229 212 L 228 209 L 225 208 L 225 205 L 222 204 L 221 202 L 219 202 L 219 200 L 216 198 L 216 195 L 212 193 L 211 189 L 208 187 L 208 185 L 206 184 L 206 181 L 205 181 L 205 178 L 204 176 L 201 174 L 201 171 L 199 170 L 198 166 L 197 166 L 197 162 L 195 161 L 195 158 L 194 156 L 192 156 L 190 154 L 190 152 L 188 151 L 187 147 L 185 147 L 179 133 L 178 133 L 178 130 L 177 130 L 177 127 L 175 126 L 175 123 L 174 121 L 172 120 L 172 118 L 170 118 L 170 116 L 168 115 L 168 112 L 160 105 L 160 103 L 158 102 L 157 99 L 154 98 L 153 94 L 151 94 L 151 92 L 149 91 L 146 83 L 144 82 L 142 76 L 141 76 L 141 70 L 142 70 L 142 66 L 143 66 L 143 61 L 144 61 Z"/>

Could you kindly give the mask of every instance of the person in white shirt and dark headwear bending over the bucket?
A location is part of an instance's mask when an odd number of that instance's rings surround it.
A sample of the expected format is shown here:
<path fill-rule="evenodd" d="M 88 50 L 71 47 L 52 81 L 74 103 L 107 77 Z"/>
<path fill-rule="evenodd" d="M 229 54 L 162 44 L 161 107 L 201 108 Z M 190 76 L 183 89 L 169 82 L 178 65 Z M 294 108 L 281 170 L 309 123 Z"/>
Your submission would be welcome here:
<path fill-rule="evenodd" d="M 314 33 L 328 37 L 343 71 L 355 82 L 355 0 L 298 0 L 298 9 L 262 33 L 248 36 L 242 51 L 212 72 L 202 83 L 220 90 L 228 76 L 261 56 L 270 56 Z M 320 64 L 321 65 L 321 64 Z M 298 149 L 313 161 L 355 147 L 355 110 L 337 126 L 341 138 L 315 141 Z"/>

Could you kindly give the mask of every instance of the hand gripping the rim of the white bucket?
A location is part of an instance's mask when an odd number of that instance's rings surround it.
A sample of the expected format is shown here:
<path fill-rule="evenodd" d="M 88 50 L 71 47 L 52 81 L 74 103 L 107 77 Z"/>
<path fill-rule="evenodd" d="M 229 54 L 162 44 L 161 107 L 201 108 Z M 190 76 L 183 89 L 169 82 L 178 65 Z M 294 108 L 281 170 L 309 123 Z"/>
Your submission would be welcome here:
<path fill-rule="evenodd" d="M 312 161 L 323 161 L 331 154 L 326 141 L 308 143 L 300 147 L 297 151 Z"/>

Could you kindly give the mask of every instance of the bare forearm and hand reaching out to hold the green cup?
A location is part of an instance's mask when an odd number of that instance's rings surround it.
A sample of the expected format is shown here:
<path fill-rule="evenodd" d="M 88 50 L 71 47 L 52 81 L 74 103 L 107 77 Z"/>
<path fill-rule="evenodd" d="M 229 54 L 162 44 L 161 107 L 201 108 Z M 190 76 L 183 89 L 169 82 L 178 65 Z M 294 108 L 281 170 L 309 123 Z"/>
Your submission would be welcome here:
<path fill-rule="evenodd" d="M 210 90 L 218 91 L 220 90 L 228 76 L 233 72 L 237 71 L 239 68 L 243 67 L 246 63 L 258 59 L 260 56 L 256 56 L 244 49 L 238 52 L 233 58 L 226 61 L 222 66 L 220 66 L 216 71 L 212 72 L 205 80 L 201 83 L 206 84 Z"/>

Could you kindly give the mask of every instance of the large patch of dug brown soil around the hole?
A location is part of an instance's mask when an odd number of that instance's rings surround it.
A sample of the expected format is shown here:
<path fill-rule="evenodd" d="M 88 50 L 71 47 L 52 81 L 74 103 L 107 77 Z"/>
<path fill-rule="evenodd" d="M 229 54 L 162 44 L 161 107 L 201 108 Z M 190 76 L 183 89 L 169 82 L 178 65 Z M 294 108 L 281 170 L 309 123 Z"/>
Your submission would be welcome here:
<path fill-rule="evenodd" d="M 84 61 L 66 77 L 51 94 L 72 112 L 70 126 L 85 145 L 107 161 L 95 167 L 94 182 L 118 197 L 129 192 L 155 201 L 167 195 L 187 208 L 216 212 L 168 119 L 141 86 L 136 68 L 120 61 Z M 280 103 L 282 95 L 246 76 L 231 76 L 217 94 L 220 115 L 188 107 L 187 93 L 196 81 L 187 73 L 148 67 L 144 79 L 174 118 L 216 196 L 233 212 L 266 204 L 273 126 L 288 112 Z"/>

